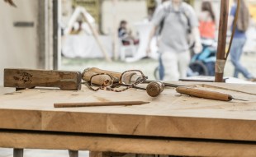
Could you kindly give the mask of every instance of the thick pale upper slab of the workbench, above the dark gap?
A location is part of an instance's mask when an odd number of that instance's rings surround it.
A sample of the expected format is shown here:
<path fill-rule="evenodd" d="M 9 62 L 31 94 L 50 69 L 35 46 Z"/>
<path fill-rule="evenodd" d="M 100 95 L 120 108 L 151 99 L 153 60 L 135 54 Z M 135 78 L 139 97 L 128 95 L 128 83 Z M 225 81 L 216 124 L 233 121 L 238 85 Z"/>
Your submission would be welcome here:
<path fill-rule="evenodd" d="M 206 85 L 201 88 L 249 102 L 194 98 L 179 95 L 174 89 L 164 90 L 157 98 L 134 89 L 121 93 L 94 92 L 87 88 L 79 91 L 30 89 L 0 96 L 0 128 L 256 141 L 256 95 L 233 91 L 256 92 L 252 90 L 256 89 L 255 85 L 209 85 L 211 88 Z M 218 86 L 233 90 L 221 90 Z M 140 99 L 150 104 L 83 109 L 55 109 L 53 106 L 55 103 L 127 99 Z"/>

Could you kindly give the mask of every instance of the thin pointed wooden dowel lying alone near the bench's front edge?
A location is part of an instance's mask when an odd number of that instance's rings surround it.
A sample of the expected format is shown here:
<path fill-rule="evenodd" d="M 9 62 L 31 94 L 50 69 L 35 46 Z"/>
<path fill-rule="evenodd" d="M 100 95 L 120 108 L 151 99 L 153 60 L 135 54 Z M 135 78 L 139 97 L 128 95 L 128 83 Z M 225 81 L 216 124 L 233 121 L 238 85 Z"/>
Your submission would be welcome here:
<path fill-rule="evenodd" d="M 95 106 L 130 106 L 149 104 L 145 101 L 116 101 L 116 102 L 87 102 L 87 103 L 55 103 L 55 108 L 76 108 L 76 107 L 95 107 Z"/>

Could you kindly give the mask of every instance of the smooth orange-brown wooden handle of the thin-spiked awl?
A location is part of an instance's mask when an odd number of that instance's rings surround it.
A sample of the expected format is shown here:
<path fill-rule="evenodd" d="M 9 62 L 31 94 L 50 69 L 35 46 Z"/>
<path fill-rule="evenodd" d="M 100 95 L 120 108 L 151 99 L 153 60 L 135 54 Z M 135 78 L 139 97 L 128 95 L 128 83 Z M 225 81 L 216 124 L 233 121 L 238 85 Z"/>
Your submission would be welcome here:
<path fill-rule="evenodd" d="M 227 95 L 224 93 L 209 90 L 199 90 L 186 86 L 179 86 L 176 88 L 176 91 L 183 95 L 190 95 L 205 99 L 216 99 L 221 101 L 230 101 L 231 99 L 233 99 L 231 95 Z"/>

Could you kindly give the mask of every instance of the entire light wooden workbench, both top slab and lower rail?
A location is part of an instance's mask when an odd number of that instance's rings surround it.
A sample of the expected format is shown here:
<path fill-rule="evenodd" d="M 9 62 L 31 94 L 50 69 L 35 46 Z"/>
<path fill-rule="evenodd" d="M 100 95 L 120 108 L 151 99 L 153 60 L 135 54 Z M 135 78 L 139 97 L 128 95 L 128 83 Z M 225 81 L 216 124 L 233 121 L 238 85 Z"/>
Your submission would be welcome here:
<path fill-rule="evenodd" d="M 0 96 L 0 146 L 194 156 L 256 155 L 256 85 L 197 85 L 221 102 L 166 89 L 121 93 L 31 89 Z M 230 90 L 227 90 L 230 89 Z M 54 103 L 143 100 L 139 106 L 55 109 Z"/>

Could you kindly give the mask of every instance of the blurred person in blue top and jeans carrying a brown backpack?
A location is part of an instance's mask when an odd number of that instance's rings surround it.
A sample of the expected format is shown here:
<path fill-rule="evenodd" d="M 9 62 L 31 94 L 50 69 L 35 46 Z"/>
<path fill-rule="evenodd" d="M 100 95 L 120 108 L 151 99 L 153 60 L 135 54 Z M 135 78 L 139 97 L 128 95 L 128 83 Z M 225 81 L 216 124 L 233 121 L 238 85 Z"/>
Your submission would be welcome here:
<path fill-rule="evenodd" d="M 230 21 L 229 25 L 231 30 L 234 26 L 235 12 L 237 11 L 237 0 L 234 0 L 234 4 L 230 11 Z M 230 48 L 230 58 L 231 62 L 235 67 L 234 77 L 238 77 L 239 73 L 250 80 L 255 81 L 255 77 L 249 73 L 249 71 L 241 64 L 240 57 L 243 53 L 244 44 L 246 42 L 245 32 L 249 27 L 249 8 L 247 6 L 246 0 L 240 0 L 239 5 L 239 16 L 235 28 L 235 35 L 233 39 L 232 46 Z"/>

